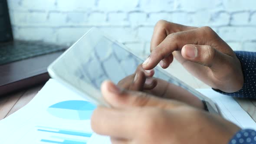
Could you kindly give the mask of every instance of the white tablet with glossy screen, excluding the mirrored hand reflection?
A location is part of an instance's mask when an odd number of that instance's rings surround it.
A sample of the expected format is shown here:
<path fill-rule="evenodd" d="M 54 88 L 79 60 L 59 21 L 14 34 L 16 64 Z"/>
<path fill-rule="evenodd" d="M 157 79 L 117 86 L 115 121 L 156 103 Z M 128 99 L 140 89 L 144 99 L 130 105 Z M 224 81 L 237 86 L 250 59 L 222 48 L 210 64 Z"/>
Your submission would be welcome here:
<path fill-rule="evenodd" d="M 101 83 L 108 79 L 117 84 L 121 79 L 133 74 L 143 62 L 143 59 L 126 46 L 99 29 L 92 28 L 49 65 L 48 72 L 53 79 L 72 88 L 95 105 L 108 106 L 100 92 Z M 205 100 L 204 95 L 165 72 L 159 65 L 154 71 L 155 78 L 178 85 Z M 208 102 L 209 100 L 207 106 Z M 216 105 L 210 103 L 212 112 L 218 112 Z"/>

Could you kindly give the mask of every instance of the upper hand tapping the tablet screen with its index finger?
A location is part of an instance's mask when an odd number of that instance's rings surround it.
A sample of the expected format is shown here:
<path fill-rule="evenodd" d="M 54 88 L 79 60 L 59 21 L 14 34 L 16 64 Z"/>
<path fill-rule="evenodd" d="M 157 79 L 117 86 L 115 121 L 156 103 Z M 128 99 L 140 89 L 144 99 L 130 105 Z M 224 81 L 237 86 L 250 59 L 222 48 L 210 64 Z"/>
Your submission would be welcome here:
<path fill-rule="evenodd" d="M 160 20 L 154 27 L 151 54 L 143 63 L 167 68 L 173 56 L 192 75 L 223 92 L 243 86 L 243 72 L 236 54 L 210 27 L 191 27 Z"/>

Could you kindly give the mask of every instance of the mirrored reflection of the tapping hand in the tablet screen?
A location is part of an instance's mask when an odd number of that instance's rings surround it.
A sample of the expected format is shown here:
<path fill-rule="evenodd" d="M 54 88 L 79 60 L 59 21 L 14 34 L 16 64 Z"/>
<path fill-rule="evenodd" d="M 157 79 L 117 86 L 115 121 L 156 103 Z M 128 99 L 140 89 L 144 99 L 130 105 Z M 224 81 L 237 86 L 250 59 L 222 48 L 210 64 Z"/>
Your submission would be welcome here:
<path fill-rule="evenodd" d="M 139 65 L 134 74 L 128 75 L 118 82 L 118 87 L 132 91 L 146 92 L 161 98 L 182 101 L 188 105 L 203 109 L 203 102 L 190 92 L 163 79 L 153 77 L 154 69 L 144 70 Z"/>

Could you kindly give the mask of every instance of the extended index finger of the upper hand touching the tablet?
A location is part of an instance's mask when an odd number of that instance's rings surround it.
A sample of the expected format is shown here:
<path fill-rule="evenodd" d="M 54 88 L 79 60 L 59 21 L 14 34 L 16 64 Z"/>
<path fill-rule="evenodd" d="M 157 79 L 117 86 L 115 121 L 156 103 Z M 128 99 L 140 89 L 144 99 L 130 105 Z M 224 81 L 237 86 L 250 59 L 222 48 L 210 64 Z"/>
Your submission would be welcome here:
<path fill-rule="evenodd" d="M 143 62 L 143 69 L 153 69 L 162 59 L 175 50 L 181 50 L 186 44 L 210 45 L 213 40 L 209 39 L 212 33 L 215 32 L 210 27 L 201 27 L 169 34 Z"/>

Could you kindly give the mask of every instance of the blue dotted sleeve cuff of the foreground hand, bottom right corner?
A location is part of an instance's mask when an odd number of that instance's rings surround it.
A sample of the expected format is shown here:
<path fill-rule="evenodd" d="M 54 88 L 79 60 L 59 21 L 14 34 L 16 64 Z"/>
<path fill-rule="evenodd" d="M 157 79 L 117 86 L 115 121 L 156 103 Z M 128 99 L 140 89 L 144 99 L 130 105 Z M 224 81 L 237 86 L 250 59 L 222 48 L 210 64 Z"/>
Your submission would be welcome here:
<path fill-rule="evenodd" d="M 242 129 L 231 138 L 228 144 L 256 144 L 256 131 Z"/>

